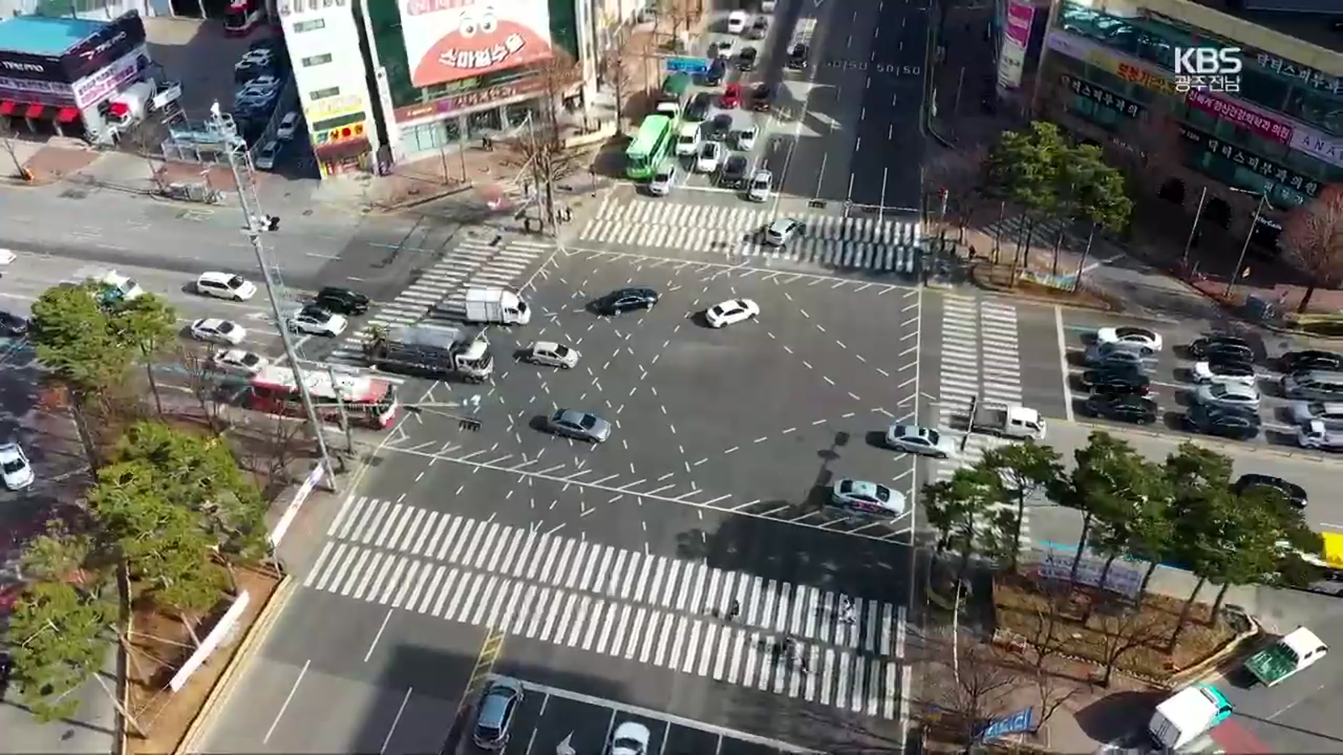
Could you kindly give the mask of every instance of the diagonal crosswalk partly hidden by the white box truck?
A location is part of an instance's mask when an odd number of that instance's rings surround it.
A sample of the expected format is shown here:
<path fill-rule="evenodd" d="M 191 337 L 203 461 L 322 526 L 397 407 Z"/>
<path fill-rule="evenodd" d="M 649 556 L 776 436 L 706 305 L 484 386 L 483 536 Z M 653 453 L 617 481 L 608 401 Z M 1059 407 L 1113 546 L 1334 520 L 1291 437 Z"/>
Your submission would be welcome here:
<path fill-rule="evenodd" d="M 512 286 L 551 249 L 548 242 L 530 239 L 512 239 L 498 246 L 475 238 L 459 242 L 396 298 L 380 305 L 364 328 L 336 347 L 328 361 L 363 367 L 363 343 L 372 326 L 459 322 L 466 313 L 467 287 Z"/>

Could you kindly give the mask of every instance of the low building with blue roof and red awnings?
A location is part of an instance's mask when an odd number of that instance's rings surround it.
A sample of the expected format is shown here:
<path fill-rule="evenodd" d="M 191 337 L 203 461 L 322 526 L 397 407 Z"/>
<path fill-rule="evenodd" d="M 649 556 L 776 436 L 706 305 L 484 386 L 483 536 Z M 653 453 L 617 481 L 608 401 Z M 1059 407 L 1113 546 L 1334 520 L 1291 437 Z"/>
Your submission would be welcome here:
<path fill-rule="evenodd" d="M 125 116 L 118 95 L 152 64 L 134 11 L 111 21 L 0 20 L 0 117 L 15 132 L 98 141 Z"/>

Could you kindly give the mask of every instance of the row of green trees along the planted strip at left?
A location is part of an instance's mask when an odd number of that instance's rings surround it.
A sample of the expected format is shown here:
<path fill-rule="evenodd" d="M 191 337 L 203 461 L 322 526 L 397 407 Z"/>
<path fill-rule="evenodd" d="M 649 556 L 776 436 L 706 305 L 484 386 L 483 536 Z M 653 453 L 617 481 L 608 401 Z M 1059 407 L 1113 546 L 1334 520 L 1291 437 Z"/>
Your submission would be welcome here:
<path fill-rule="evenodd" d="M 34 302 L 30 321 L 47 390 L 64 395 L 94 478 L 27 544 L 26 584 L 5 630 L 12 680 L 43 721 L 73 715 L 74 692 L 102 684 L 109 649 L 129 649 L 132 605 L 176 617 L 199 641 L 235 570 L 269 553 L 266 504 L 231 446 L 164 422 L 149 367 L 176 341 L 172 306 L 153 294 L 109 294 L 93 282 L 56 286 Z M 136 390 L 137 364 L 157 418 L 122 419 L 124 407 L 111 406 Z"/>

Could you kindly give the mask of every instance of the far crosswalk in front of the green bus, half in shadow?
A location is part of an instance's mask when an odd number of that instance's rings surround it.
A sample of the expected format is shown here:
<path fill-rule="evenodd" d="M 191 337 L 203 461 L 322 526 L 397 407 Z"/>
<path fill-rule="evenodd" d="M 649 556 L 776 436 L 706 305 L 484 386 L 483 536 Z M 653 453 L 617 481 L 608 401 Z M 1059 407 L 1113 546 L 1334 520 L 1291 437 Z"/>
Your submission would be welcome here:
<path fill-rule="evenodd" d="M 776 219 L 764 210 L 635 200 L 604 206 L 598 218 L 583 226 L 577 238 L 907 275 L 919 265 L 923 232 L 920 223 L 909 218 L 813 214 L 791 218 L 806 226 L 806 232 L 779 249 L 761 240 L 761 230 Z"/>

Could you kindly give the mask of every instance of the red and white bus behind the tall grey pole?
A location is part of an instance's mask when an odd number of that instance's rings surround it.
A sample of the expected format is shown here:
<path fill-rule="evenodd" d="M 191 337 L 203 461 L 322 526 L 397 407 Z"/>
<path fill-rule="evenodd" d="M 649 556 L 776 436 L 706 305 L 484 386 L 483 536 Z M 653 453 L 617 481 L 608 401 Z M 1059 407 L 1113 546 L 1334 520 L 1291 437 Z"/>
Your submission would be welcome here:
<path fill-rule="evenodd" d="M 326 422 L 340 422 L 341 406 L 352 425 L 385 430 L 396 419 L 400 404 L 396 387 L 387 380 L 344 372 L 309 369 L 308 395 L 318 416 Z M 304 415 L 304 400 L 294 371 L 287 367 L 267 367 L 251 380 L 247 408 L 290 416 Z"/>

